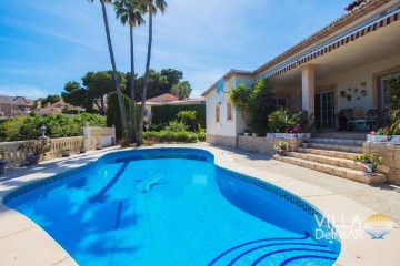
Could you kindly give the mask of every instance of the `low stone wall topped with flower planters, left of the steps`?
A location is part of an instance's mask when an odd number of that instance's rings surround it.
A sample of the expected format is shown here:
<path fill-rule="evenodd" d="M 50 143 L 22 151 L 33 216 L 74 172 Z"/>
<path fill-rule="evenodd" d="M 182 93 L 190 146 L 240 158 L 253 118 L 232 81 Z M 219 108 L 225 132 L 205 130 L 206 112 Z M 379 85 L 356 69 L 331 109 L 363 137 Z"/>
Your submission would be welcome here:
<path fill-rule="evenodd" d="M 297 151 L 303 139 L 297 137 L 260 137 L 260 136 L 239 136 L 238 147 L 251 152 L 261 152 L 273 154 L 273 144 L 277 141 L 286 141 L 289 143 L 291 151 Z"/>

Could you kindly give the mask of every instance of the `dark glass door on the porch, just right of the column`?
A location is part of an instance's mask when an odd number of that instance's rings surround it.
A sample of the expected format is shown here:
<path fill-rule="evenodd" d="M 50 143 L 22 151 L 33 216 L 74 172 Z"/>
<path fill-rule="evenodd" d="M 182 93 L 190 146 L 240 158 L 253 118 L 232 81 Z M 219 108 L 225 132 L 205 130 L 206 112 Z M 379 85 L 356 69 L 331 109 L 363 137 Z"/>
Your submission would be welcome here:
<path fill-rule="evenodd" d="M 334 91 L 316 94 L 316 126 L 334 130 Z"/>

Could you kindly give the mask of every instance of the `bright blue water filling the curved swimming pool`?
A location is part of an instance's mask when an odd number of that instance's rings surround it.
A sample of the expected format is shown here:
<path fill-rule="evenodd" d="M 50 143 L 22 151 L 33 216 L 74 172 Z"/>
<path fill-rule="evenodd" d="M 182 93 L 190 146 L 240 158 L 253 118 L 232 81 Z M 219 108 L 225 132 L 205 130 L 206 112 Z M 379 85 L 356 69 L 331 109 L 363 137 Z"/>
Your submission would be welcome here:
<path fill-rule="evenodd" d="M 201 150 L 118 152 L 50 181 L 4 202 L 80 265 L 332 265 L 339 256 L 337 241 L 314 239 L 308 204 Z"/>

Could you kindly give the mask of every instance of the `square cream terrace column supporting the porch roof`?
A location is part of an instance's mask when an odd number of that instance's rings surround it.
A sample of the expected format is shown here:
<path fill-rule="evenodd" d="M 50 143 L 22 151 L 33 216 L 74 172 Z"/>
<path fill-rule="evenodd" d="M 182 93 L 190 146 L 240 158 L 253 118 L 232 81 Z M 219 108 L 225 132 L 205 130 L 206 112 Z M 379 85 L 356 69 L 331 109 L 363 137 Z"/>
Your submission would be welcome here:
<path fill-rule="evenodd" d="M 316 93 L 316 65 L 307 64 L 301 68 L 301 92 L 302 110 L 309 114 L 314 113 L 314 93 Z"/>

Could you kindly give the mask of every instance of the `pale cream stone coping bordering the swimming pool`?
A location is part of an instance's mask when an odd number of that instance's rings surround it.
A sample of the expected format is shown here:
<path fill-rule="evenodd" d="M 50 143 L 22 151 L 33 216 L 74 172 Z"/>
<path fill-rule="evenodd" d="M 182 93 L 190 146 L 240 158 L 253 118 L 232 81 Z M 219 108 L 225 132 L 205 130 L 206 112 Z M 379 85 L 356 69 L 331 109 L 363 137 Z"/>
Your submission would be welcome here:
<path fill-rule="evenodd" d="M 157 145 L 154 147 L 160 147 Z M 331 223 L 341 228 L 341 232 L 351 233 L 358 225 L 376 214 L 374 211 L 344 196 L 317 187 L 314 185 L 266 171 L 256 170 L 238 164 L 230 155 L 231 152 L 214 147 L 199 145 L 162 145 L 167 147 L 196 147 L 210 152 L 214 156 L 214 164 L 244 175 L 249 175 L 273 185 L 277 185 L 300 198 L 309 202 L 321 213 L 330 217 Z M 62 165 L 62 168 L 54 170 L 54 173 L 37 173 L 22 175 L 12 180 L 0 182 L 0 198 L 8 192 L 28 183 L 47 178 L 57 173 L 68 171 L 87 164 L 98 157 L 112 152 L 90 154 L 82 163 L 71 160 Z M 127 149 L 124 150 L 127 151 Z M 51 161 L 52 162 L 52 161 Z M 42 163 L 46 168 L 51 162 Z M 334 217 L 334 221 L 333 221 Z M 357 221 L 358 219 L 358 221 Z M 356 228 L 357 229 L 357 228 Z M 400 243 L 400 227 L 394 225 L 392 232 L 384 241 L 370 239 L 364 232 L 360 235 L 363 239 L 354 237 L 341 238 L 341 253 L 336 265 L 399 265 L 400 255 L 396 246 Z M 28 241 L 27 241 L 28 239 Z M 40 245 L 41 248 L 38 248 Z M 29 218 L 8 208 L 0 203 L 0 256 L 6 265 L 77 265 L 73 258 L 43 229 Z"/>

